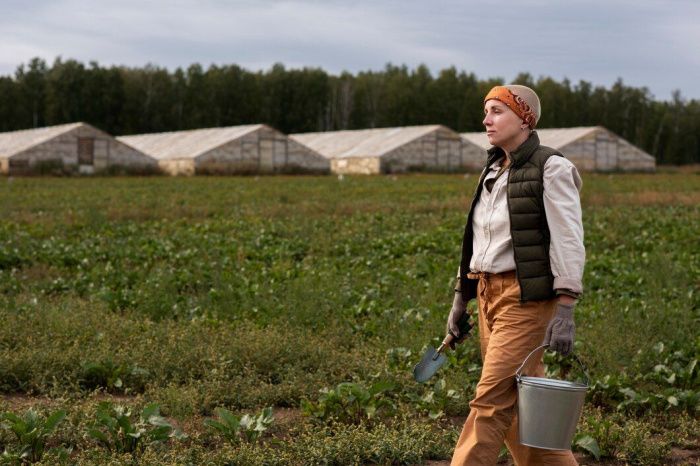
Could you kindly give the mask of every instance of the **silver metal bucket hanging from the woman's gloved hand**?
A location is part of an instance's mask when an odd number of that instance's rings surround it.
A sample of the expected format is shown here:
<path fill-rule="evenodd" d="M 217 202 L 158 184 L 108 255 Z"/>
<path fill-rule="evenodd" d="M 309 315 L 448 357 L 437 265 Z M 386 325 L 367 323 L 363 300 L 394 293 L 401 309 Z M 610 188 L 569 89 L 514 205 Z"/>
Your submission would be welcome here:
<path fill-rule="evenodd" d="M 518 428 L 520 443 L 547 450 L 569 450 L 581 417 L 583 401 L 590 379 L 581 360 L 572 354 L 583 368 L 586 383 L 544 377 L 523 376 L 522 370 L 535 348 L 515 372 L 518 384 Z"/>

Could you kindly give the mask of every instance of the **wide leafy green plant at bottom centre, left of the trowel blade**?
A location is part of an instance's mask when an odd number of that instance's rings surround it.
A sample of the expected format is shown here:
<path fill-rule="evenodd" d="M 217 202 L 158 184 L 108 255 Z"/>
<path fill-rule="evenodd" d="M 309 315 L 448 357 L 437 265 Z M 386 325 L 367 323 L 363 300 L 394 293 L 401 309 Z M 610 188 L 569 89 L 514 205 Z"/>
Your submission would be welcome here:
<path fill-rule="evenodd" d="M 394 402 L 387 394 L 394 390 L 388 381 L 377 382 L 365 387 L 359 383 L 342 382 L 333 389 L 322 389 L 317 403 L 302 401 L 302 410 L 317 419 L 335 418 L 343 422 L 360 422 L 363 418 L 372 419 L 380 412 L 393 412 Z"/>

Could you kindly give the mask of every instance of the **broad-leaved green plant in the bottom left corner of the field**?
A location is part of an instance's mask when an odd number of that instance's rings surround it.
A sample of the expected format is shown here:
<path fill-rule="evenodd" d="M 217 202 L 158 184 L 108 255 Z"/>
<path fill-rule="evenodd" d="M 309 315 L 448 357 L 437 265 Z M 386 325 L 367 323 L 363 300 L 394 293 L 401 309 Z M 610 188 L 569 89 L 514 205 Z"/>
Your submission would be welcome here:
<path fill-rule="evenodd" d="M 0 427 L 12 432 L 18 442 L 16 448 L 5 450 L 3 458 L 33 463 L 41 460 L 45 453 L 47 439 L 65 419 L 66 412 L 58 410 L 44 417 L 34 409 L 29 409 L 21 416 L 5 412 L 0 417 L 2 419 Z"/>

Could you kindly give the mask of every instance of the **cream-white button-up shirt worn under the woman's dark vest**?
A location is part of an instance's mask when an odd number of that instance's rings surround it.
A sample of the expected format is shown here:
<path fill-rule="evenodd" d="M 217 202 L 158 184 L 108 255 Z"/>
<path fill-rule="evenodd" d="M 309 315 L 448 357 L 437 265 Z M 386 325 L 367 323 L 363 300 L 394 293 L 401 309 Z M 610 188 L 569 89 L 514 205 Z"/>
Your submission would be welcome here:
<path fill-rule="evenodd" d="M 486 180 L 499 170 L 494 162 Z M 484 186 L 472 215 L 472 272 L 501 273 L 515 270 L 513 241 L 507 200 L 508 169 L 496 180 L 491 192 Z M 583 224 L 579 191 L 581 177 L 576 167 L 564 157 L 547 159 L 543 173 L 544 209 L 550 232 L 549 260 L 554 275 L 554 289 L 583 292 Z"/>

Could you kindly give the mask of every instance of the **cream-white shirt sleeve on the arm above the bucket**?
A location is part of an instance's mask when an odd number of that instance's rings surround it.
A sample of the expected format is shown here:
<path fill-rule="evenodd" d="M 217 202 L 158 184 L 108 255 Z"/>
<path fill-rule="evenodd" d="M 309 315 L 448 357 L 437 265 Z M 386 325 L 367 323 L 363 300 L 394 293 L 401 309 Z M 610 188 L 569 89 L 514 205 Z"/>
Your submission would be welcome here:
<path fill-rule="evenodd" d="M 552 156 L 544 166 L 543 184 L 554 289 L 583 293 L 586 250 L 579 196 L 581 176 L 569 160 Z"/>

